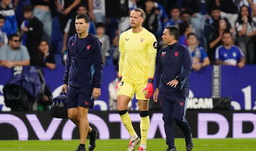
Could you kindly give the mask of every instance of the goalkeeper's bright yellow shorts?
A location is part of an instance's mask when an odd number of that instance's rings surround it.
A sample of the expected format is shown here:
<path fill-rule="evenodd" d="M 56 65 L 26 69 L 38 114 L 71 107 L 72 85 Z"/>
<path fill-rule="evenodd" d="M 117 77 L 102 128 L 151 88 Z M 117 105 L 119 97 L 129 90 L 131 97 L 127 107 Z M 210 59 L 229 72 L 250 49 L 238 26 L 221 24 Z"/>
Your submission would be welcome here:
<path fill-rule="evenodd" d="M 135 93 L 137 100 L 148 100 L 147 98 L 145 98 L 147 91 L 143 93 L 143 89 L 147 84 L 130 84 L 130 83 L 125 83 L 123 81 L 121 81 L 119 84 L 120 84 L 119 85 L 120 89 L 117 92 L 117 96 L 125 95 L 132 98 Z"/>

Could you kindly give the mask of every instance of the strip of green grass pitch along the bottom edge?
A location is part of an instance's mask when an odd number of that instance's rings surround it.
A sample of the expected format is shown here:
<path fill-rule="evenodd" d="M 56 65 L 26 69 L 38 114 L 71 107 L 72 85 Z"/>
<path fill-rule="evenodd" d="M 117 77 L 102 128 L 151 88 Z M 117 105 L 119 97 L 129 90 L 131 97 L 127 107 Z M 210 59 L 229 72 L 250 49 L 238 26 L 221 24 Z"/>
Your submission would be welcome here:
<path fill-rule="evenodd" d="M 86 143 L 86 150 L 88 151 L 88 143 Z M 79 140 L 29 140 L 29 141 L 19 141 L 19 140 L 1 140 L 0 150 L 15 150 L 15 151 L 74 151 L 76 146 L 78 146 Z M 121 139 L 110 139 L 110 140 L 97 140 L 96 149 L 94 151 L 115 151 L 115 150 L 127 150 L 129 140 Z M 185 141 L 182 138 L 175 139 L 176 148 L 178 151 L 186 151 Z M 147 140 L 147 151 L 165 151 L 166 144 L 164 139 L 151 139 Z M 138 148 L 138 146 L 137 146 Z M 136 148 L 136 150 L 137 150 Z M 246 150 L 254 151 L 256 150 L 256 139 L 197 139 L 194 138 L 194 148 L 193 150 Z"/>

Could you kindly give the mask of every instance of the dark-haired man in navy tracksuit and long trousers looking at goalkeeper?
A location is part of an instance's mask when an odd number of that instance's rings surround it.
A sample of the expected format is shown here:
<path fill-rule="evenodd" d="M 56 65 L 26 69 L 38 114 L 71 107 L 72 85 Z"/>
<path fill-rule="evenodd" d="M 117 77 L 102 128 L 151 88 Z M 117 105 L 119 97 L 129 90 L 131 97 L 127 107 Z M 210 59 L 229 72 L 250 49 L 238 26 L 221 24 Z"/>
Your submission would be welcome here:
<path fill-rule="evenodd" d="M 162 119 L 166 133 L 166 151 L 175 151 L 174 129 L 172 121 L 176 121 L 183 131 L 186 140 L 186 150 L 192 150 L 193 142 L 190 127 L 185 118 L 186 104 L 189 94 L 189 75 L 192 72 L 190 51 L 177 42 L 180 35 L 175 26 L 166 26 L 162 40 L 166 47 L 160 49 L 157 68 L 157 88 L 154 100 L 158 95 L 161 101 Z M 160 89 L 160 90 L 159 90 Z"/>

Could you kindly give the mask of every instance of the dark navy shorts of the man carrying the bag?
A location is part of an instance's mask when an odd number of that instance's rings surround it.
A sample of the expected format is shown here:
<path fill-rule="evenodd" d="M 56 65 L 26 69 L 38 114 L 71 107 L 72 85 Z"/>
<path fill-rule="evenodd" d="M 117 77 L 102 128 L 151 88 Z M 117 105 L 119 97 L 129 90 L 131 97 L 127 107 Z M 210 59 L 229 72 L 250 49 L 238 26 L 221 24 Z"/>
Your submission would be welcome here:
<path fill-rule="evenodd" d="M 68 86 L 68 109 L 82 106 L 90 109 L 94 108 L 94 96 L 92 96 L 93 88 L 77 88 Z"/>

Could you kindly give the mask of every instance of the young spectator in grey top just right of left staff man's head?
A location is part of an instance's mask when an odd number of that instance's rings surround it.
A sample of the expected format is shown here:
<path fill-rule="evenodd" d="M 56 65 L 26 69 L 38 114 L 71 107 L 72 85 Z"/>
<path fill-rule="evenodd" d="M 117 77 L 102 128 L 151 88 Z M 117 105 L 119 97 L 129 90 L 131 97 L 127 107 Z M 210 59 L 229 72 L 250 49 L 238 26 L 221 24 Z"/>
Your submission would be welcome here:
<path fill-rule="evenodd" d="M 101 55 L 103 59 L 103 63 L 105 64 L 105 58 L 109 57 L 109 48 L 110 48 L 110 42 L 109 42 L 109 36 L 105 34 L 105 26 L 102 22 L 99 22 L 96 24 L 96 37 L 99 38 L 99 41 L 101 42 Z"/>

